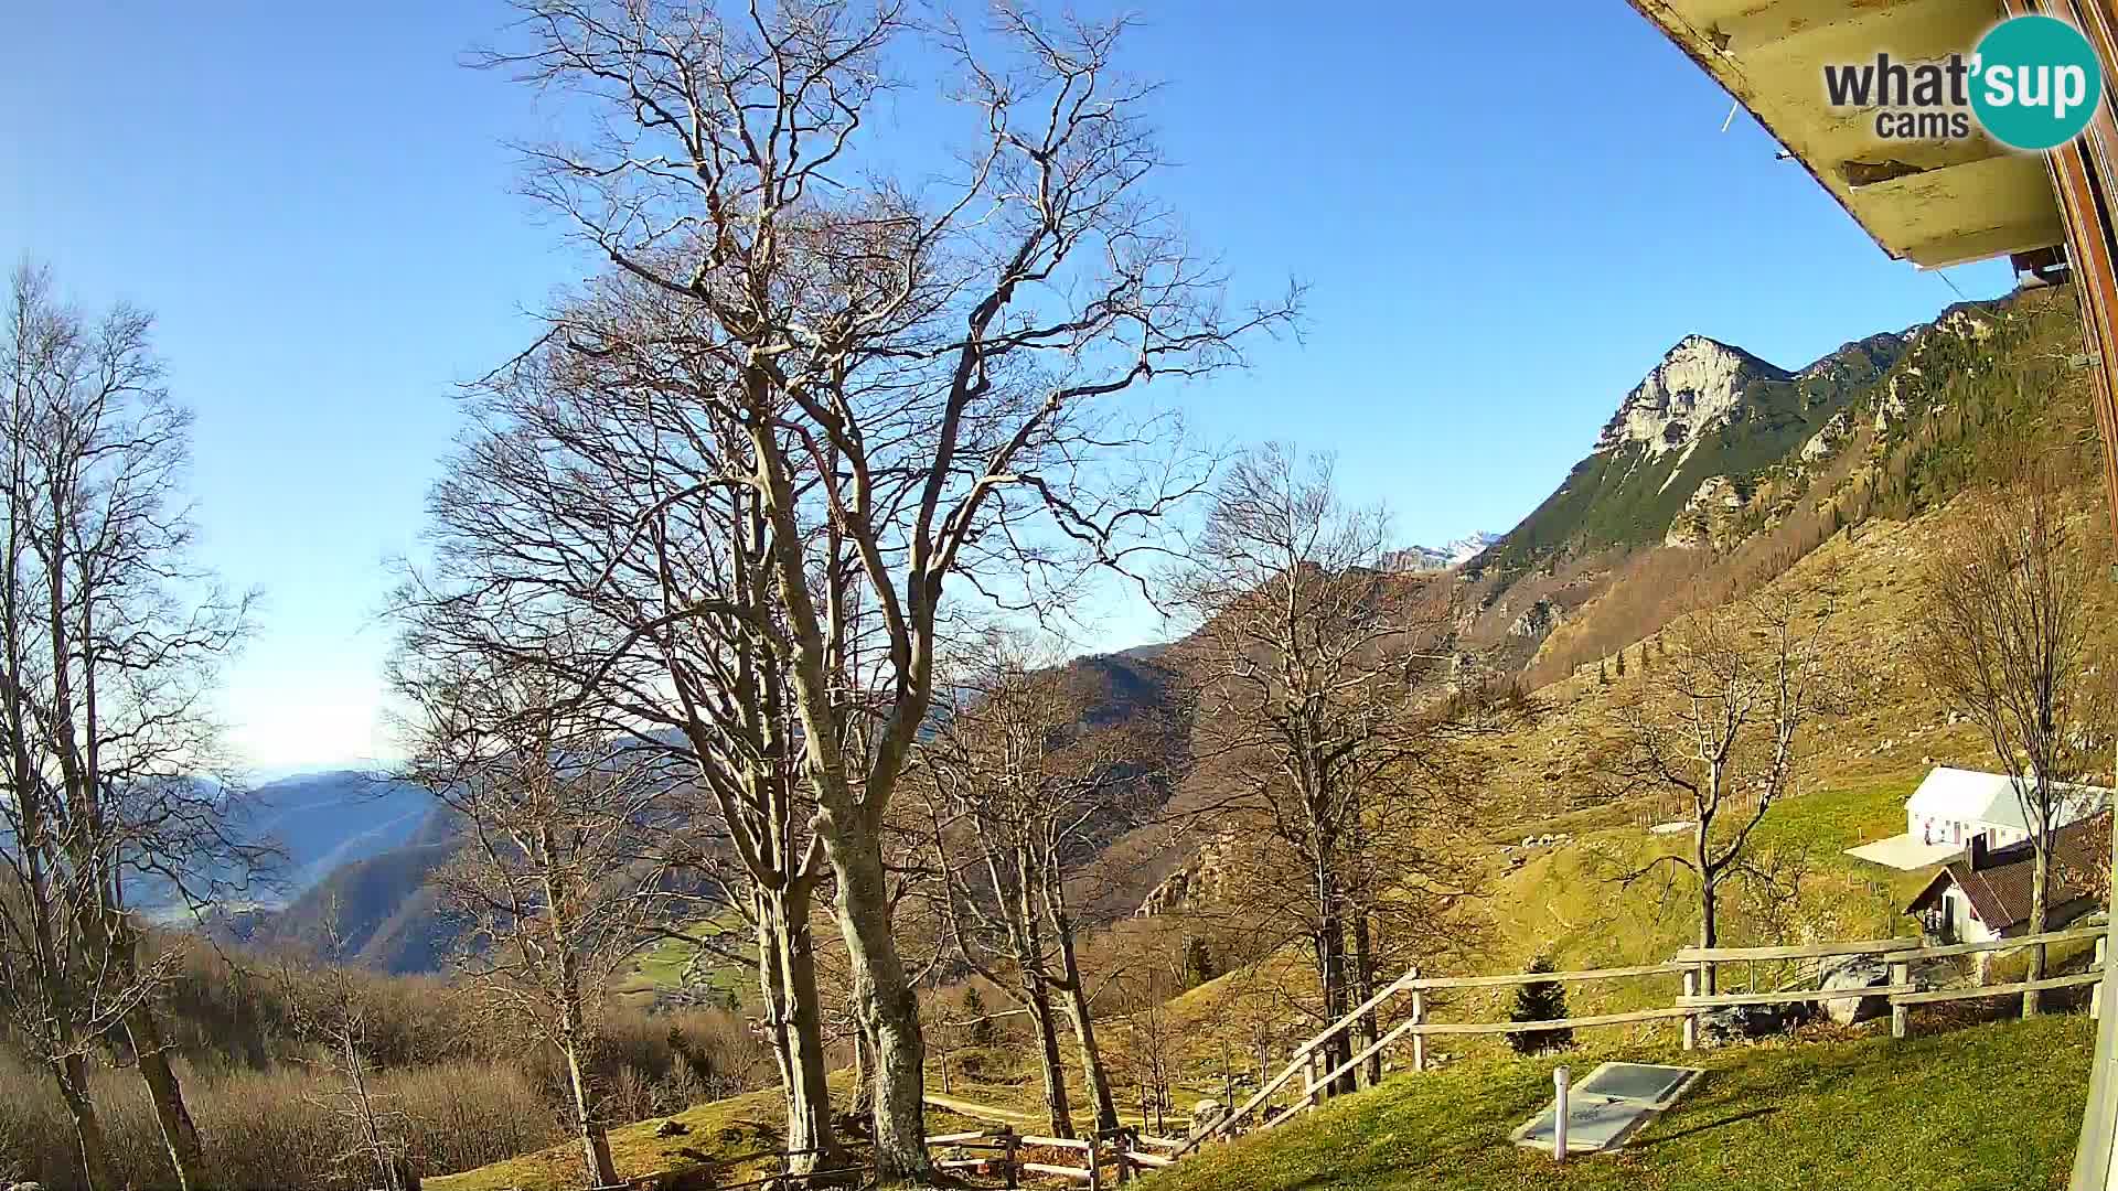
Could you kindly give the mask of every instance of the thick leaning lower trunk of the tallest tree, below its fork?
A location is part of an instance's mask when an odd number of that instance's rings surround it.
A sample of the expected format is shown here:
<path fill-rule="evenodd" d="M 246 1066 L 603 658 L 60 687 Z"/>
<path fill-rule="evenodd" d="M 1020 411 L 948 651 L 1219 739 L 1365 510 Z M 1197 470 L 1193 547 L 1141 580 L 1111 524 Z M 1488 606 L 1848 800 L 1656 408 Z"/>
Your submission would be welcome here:
<path fill-rule="evenodd" d="M 854 973 L 854 1007 L 868 1034 L 875 1077 L 875 1174 L 881 1183 L 926 1178 L 926 1038 L 919 998 L 904 979 L 890 928 L 881 833 L 826 810 L 818 837 L 839 875 L 839 926 Z"/>

